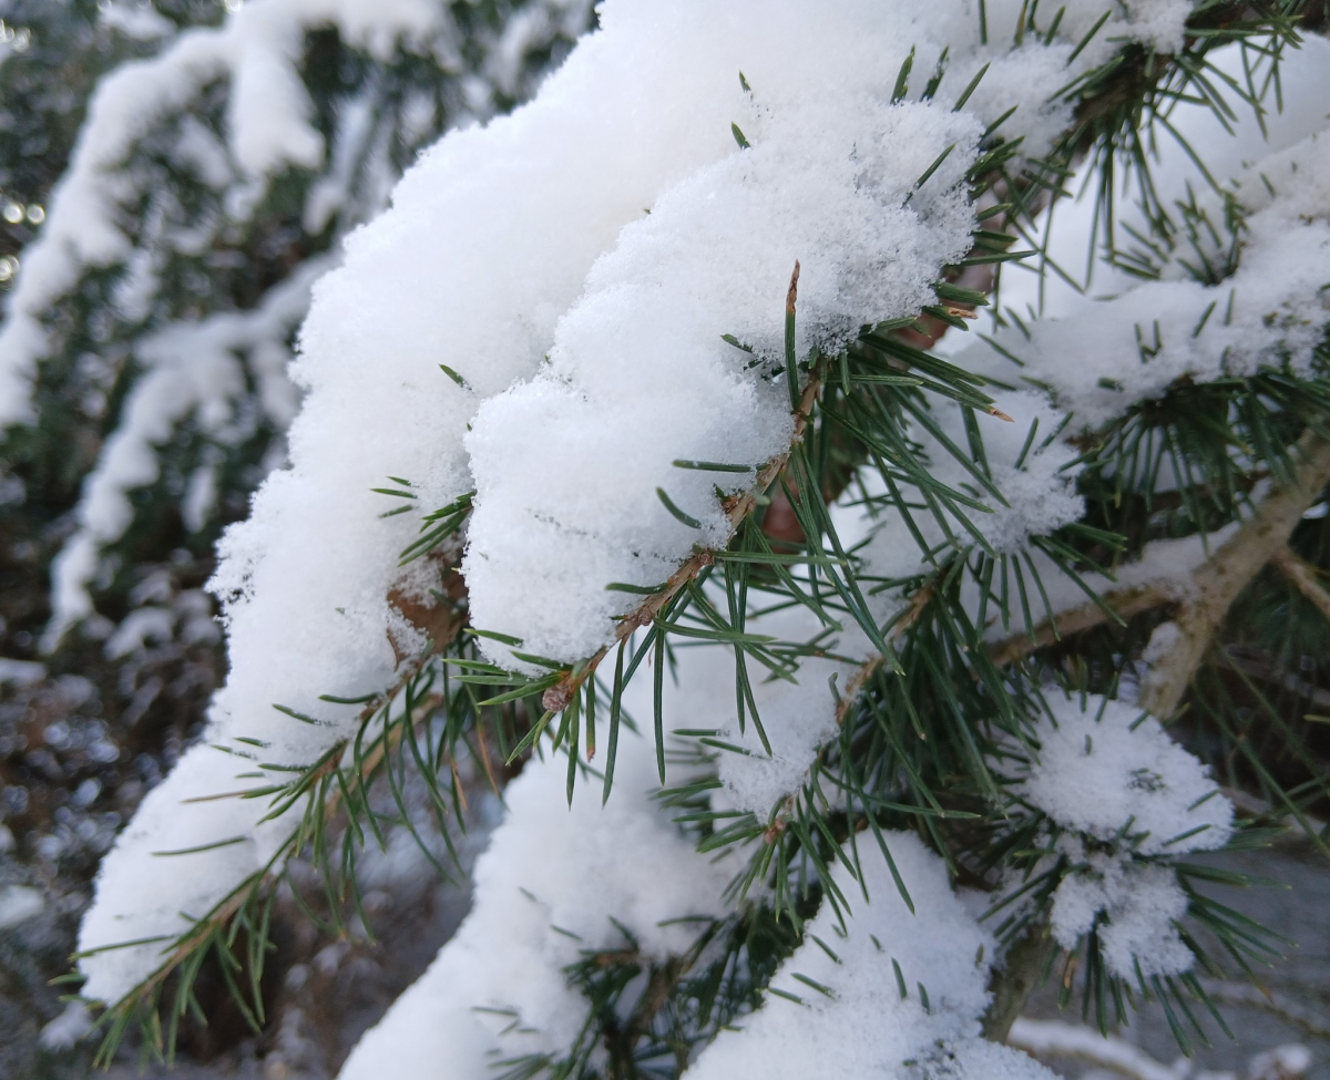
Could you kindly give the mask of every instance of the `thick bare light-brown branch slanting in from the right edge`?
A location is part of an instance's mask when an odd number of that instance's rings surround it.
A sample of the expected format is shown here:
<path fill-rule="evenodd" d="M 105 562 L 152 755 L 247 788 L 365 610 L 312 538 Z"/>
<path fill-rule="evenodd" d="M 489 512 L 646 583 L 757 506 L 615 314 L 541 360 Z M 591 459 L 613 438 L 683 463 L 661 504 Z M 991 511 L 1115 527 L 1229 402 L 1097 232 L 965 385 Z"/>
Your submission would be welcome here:
<path fill-rule="evenodd" d="M 1241 528 L 1192 576 L 1190 591 L 1174 622 L 1177 644 L 1157 662 L 1141 688 L 1141 708 L 1170 717 L 1209 650 L 1214 632 L 1238 593 L 1281 549 L 1303 512 L 1330 483 L 1330 442 L 1307 431 L 1294 447 L 1291 483 L 1277 487 Z"/>

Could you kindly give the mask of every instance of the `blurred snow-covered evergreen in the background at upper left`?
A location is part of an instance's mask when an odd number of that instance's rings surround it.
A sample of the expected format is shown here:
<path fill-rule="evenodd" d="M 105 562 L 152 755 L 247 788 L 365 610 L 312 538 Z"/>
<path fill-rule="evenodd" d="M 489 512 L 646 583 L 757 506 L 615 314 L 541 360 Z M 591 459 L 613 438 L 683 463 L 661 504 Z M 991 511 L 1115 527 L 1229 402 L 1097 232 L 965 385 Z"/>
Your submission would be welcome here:
<path fill-rule="evenodd" d="M 109 684 L 112 729 L 197 718 L 218 641 L 200 585 L 283 460 L 311 281 L 422 148 L 529 96 L 589 15 L 0 5 L 5 681 L 47 660 Z"/>

